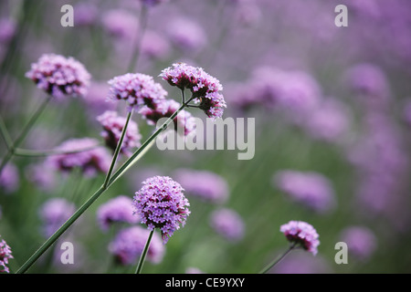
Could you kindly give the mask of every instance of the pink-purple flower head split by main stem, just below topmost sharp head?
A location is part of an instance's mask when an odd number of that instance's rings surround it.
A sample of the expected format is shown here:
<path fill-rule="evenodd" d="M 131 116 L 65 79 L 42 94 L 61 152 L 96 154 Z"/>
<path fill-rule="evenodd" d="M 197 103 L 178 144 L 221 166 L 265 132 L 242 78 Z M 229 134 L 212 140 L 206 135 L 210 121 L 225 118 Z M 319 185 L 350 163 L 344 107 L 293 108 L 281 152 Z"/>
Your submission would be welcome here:
<path fill-rule="evenodd" d="M 152 108 L 147 106 L 142 107 L 139 113 L 144 120 L 150 125 L 155 125 L 162 118 L 170 118 L 176 110 L 180 108 L 180 104 L 173 99 L 163 99 Z M 188 135 L 195 130 L 195 119 L 190 112 L 181 110 L 174 118 L 174 130 L 179 132 L 181 129 L 184 135 Z"/>

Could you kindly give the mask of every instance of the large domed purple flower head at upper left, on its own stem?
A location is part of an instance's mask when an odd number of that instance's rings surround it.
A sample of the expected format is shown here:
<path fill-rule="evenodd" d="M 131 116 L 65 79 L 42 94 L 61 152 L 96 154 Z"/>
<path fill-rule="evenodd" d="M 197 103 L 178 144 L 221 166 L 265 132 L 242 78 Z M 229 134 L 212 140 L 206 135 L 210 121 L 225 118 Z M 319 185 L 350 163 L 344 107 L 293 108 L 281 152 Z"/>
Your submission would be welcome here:
<path fill-rule="evenodd" d="M 26 78 L 32 79 L 38 89 L 56 98 L 85 96 L 90 84 L 90 73 L 74 57 L 45 54 L 31 65 Z"/>

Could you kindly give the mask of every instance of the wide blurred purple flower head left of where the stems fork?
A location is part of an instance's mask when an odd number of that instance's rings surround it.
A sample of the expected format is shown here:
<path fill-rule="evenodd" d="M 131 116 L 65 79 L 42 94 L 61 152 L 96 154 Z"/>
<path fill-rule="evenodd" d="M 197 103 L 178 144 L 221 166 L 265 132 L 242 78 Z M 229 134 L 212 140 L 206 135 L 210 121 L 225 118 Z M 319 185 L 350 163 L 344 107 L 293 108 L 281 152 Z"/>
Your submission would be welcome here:
<path fill-rule="evenodd" d="M 91 138 L 71 139 L 60 144 L 56 150 L 78 152 L 52 155 L 46 162 L 61 172 L 71 172 L 75 168 L 79 168 L 87 176 L 107 172 L 111 164 L 111 155 L 104 147 L 98 145 L 99 141 Z"/>

